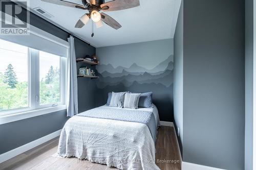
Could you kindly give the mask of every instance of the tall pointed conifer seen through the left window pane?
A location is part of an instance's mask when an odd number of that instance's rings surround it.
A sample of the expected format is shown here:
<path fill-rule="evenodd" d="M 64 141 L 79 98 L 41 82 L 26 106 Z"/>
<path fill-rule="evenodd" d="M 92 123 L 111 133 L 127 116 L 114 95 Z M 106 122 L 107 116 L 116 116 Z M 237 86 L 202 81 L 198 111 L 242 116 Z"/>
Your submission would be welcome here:
<path fill-rule="evenodd" d="M 9 64 L 7 66 L 7 69 L 5 71 L 4 83 L 7 83 L 11 88 L 15 88 L 16 84 L 18 83 L 17 76 L 12 64 Z"/>

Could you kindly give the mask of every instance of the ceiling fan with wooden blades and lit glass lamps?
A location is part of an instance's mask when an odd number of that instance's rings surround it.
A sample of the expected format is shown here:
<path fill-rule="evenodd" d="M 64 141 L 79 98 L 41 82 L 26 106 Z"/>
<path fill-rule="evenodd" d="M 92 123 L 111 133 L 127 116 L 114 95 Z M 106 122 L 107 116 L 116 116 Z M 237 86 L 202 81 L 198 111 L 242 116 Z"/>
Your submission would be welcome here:
<path fill-rule="evenodd" d="M 129 8 L 138 7 L 140 5 L 139 0 L 113 0 L 109 2 L 104 2 L 104 0 L 81 0 L 82 5 L 71 3 L 64 0 L 41 0 L 43 2 L 57 4 L 67 7 L 78 8 L 82 10 L 88 10 L 89 13 L 82 15 L 77 21 L 75 28 L 82 28 L 84 25 L 88 23 L 90 19 L 95 22 L 96 28 L 100 28 L 103 26 L 103 22 L 105 22 L 110 27 L 118 30 L 122 26 L 109 15 L 99 11 L 118 11 Z M 92 25 L 93 26 L 93 25 Z M 92 34 L 93 36 L 93 34 Z"/>

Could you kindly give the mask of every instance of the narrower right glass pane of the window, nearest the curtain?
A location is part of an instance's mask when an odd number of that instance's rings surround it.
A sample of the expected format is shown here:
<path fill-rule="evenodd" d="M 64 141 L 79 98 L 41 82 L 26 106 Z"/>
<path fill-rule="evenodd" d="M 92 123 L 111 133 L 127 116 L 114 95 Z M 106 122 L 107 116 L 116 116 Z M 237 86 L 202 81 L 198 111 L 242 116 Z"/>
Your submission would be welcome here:
<path fill-rule="evenodd" d="M 60 57 L 39 51 L 40 105 L 60 102 Z"/>

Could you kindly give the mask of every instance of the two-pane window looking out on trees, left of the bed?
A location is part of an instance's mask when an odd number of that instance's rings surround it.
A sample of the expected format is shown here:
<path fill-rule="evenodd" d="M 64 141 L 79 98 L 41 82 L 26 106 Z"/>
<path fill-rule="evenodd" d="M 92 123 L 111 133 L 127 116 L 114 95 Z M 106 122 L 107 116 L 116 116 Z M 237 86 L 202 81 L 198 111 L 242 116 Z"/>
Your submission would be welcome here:
<path fill-rule="evenodd" d="M 2 39 L 0 54 L 0 116 L 65 104 L 65 57 Z"/>

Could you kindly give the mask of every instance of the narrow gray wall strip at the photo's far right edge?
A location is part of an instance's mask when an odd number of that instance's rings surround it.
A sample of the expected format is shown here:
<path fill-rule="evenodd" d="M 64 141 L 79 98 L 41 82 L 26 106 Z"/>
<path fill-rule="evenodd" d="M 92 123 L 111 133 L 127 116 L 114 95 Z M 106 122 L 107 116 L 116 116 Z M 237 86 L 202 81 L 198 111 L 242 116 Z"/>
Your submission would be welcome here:
<path fill-rule="evenodd" d="M 252 169 L 253 144 L 253 0 L 245 1 L 245 170 Z"/>

